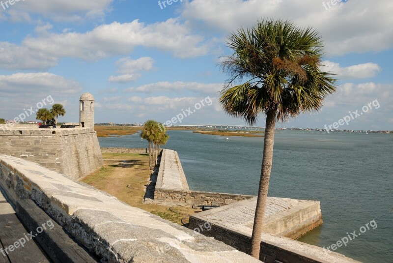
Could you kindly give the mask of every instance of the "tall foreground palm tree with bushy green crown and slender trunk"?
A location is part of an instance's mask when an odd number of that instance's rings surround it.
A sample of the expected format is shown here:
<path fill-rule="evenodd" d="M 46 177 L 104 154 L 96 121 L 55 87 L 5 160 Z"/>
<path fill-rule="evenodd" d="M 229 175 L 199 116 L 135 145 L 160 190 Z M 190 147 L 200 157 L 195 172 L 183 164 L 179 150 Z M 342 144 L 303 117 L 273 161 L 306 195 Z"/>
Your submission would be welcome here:
<path fill-rule="evenodd" d="M 262 20 L 228 39 L 234 50 L 221 67 L 230 77 L 220 102 L 227 114 L 250 125 L 266 115 L 261 177 L 255 209 L 251 255 L 259 258 L 262 221 L 272 169 L 276 120 L 317 111 L 333 93 L 336 79 L 321 70 L 322 39 L 311 28 L 283 20 Z M 246 82 L 243 82 L 246 79 Z M 235 86 L 235 84 L 243 83 Z"/>

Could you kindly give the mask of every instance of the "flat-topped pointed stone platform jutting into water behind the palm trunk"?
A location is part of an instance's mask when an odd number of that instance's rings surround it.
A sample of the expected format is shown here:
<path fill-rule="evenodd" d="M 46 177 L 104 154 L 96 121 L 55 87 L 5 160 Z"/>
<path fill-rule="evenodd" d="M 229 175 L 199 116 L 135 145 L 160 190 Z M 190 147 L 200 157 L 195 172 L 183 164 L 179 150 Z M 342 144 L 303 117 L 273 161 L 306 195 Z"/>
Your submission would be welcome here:
<path fill-rule="evenodd" d="M 253 197 L 190 217 L 251 234 L 256 200 Z M 318 201 L 268 197 L 262 227 L 264 233 L 295 239 L 321 224 L 321 205 Z"/>

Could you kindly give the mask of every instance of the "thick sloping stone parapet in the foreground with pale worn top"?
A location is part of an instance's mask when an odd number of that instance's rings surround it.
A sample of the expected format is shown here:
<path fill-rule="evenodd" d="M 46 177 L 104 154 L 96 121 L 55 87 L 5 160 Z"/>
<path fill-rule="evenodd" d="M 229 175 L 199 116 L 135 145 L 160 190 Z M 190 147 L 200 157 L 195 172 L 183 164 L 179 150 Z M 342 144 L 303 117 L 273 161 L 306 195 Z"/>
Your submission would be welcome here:
<path fill-rule="evenodd" d="M 0 187 L 31 199 L 102 262 L 259 262 L 36 163 L 0 155 Z"/>

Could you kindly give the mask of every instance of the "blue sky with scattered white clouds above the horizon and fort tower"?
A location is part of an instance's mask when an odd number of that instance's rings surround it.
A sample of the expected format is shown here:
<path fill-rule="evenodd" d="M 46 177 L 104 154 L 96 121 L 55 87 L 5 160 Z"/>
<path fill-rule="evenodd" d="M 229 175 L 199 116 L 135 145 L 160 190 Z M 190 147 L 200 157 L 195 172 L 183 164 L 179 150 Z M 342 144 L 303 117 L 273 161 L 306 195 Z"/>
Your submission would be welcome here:
<path fill-rule="evenodd" d="M 273 18 L 317 30 L 339 79 L 319 112 L 277 127 L 393 130 L 392 11 L 391 0 L 0 0 L 0 118 L 61 103 L 59 121 L 78 122 L 90 92 L 96 123 L 243 125 L 218 102 L 220 61 L 231 33 Z"/>

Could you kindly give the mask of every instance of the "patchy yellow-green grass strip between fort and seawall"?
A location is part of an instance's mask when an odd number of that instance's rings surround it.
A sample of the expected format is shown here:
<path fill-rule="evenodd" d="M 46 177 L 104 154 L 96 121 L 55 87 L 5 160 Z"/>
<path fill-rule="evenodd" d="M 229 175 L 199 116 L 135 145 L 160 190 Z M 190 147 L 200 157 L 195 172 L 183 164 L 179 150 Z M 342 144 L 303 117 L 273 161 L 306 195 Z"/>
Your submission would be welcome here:
<path fill-rule="evenodd" d="M 195 212 L 189 206 L 143 204 L 144 188 L 150 178 L 148 154 L 103 153 L 102 157 L 104 166 L 81 181 L 115 196 L 128 205 L 139 207 L 179 225 L 182 225 L 181 219 L 184 214 Z"/>

